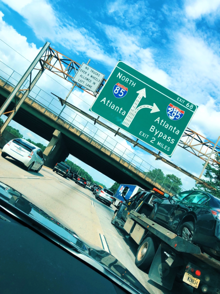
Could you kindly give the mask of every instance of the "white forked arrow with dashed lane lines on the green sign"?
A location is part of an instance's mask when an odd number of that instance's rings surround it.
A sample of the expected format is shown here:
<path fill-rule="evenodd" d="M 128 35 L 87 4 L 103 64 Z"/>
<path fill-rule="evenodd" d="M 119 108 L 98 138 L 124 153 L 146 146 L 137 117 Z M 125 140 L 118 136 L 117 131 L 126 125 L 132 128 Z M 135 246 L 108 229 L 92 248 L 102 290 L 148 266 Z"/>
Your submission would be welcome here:
<path fill-rule="evenodd" d="M 146 91 L 145 88 L 142 90 L 137 91 L 138 97 L 134 101 L 133 105 L 131 106 L 130 110 L 128 111 L 128 114 L 126 115 L 125 119 L 123 120 L 123 125 L 127 128 L 130 126 L 131 122 L 133 121 L 134 117 L 138 113 L 139 110 L 142 108 L 150 108 L 150 113 L 160 111 L 160 109 L 156 106 L 155 103 L 153 103 L 153 106 L 151 105 L 141 105 L 138 107 L 138 104 L 140 103 L 142 97 L 146 98 Z"/>

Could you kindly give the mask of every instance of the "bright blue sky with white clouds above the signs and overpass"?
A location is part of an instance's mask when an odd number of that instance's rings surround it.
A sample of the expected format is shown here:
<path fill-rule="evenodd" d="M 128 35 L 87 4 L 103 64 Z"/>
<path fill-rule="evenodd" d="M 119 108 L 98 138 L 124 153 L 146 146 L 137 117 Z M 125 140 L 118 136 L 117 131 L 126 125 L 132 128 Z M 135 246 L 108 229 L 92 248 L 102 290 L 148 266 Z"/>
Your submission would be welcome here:
<path fill-rule="evenodd" d="M 3 0 L 0 11 L 0 39 L 28 60 L 33 60 L 45 41 L 78 63 L 91 58 L 90 65 L 106 77 L 121 59 L 197 104 L 199 108 L 189 127 L 212 141 L 218 138 L 220 0 L 80 1 L 80 4 L 69 0 Z M 28 61 L 1 41 L 0 60 L 20 74 L 28 67 Z M 41 86 L 50 92 L 54 83 L 45 77 Z M 75 94 L 92 104 L 91 97 L 79 91 Z M 87 107 L 80 101 L 78 106 Z M 143 156 L 142 151 L 138 152 Z M 144 156 L 165 173 L 180 176 L 188 188 L 194 185 L 183 174 Z M 172 160 L 196 175 L 202 169 L 201 160 L 179 147 Z"/>

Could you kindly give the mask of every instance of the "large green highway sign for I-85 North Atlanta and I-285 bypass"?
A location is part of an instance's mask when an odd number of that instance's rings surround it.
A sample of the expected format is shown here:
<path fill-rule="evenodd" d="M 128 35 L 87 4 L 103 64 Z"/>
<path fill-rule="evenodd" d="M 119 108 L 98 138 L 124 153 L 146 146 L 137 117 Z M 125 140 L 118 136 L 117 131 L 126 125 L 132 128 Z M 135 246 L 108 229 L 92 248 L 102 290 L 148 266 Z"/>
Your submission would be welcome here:
<path fill-rule="evenodd" d="M 119 61 L 90 110 L 171 156 L 197 105 Z"/>

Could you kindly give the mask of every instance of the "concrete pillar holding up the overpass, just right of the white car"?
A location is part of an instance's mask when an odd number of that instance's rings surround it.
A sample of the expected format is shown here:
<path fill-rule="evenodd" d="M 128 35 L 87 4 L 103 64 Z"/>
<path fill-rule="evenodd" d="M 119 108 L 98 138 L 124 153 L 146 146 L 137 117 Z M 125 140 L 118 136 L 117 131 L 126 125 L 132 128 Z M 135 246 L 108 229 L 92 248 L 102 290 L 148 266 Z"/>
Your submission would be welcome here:
<path fill-rule="evenodd" d="M 65 161 L 69 156 L 69 152 L 60 131 L 55 130 L 53 132 L 53 138 L 44 150 L 43 156 L 46 159 L 44 165 L 50 168 L 54 168 L 57 162 Z"/>

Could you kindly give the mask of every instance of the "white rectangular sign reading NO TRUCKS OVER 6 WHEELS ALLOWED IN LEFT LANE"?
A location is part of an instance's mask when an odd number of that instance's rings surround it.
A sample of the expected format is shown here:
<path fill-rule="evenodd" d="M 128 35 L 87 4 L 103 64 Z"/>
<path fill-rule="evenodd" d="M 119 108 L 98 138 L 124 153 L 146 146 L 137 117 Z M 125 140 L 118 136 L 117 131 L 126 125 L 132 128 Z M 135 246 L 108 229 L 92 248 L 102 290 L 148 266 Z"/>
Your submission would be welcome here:
<path fill-rule="evenodd" d="M 104 74 L 83 62 L 75 74 L 73 81 L 95 93 L 104 76 Z"/>

